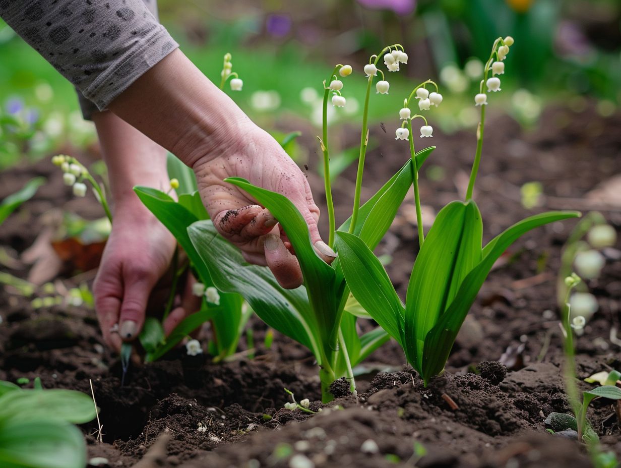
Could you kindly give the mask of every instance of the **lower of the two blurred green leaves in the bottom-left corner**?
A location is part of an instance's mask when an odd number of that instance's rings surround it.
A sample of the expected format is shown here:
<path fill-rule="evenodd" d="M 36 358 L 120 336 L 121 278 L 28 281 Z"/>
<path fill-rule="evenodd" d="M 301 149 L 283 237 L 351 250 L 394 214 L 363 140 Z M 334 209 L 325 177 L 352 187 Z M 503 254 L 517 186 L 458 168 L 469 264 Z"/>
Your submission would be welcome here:
<path fill-rule="evenodd" d="M 91 401 L 92 404 L 92 401 Z M 84 468 L 81 431 L 63 421 L 22 420 L 0 423 L 2 468 Z"/>

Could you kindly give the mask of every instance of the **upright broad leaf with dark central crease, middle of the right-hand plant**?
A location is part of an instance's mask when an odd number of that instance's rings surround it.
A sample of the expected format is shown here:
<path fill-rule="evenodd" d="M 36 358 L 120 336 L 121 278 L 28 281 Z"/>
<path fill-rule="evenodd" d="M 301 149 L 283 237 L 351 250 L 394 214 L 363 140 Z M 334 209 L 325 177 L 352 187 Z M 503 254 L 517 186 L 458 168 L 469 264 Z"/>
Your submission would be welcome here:
<path fill-rule="evenodd" d="M 410 363 L 422 367 L 425 336 L 481 260 L 483 222 L 474 201 L 453 201 L 438 213 L 416 257 L 407 287 L 405 342 Z"/>

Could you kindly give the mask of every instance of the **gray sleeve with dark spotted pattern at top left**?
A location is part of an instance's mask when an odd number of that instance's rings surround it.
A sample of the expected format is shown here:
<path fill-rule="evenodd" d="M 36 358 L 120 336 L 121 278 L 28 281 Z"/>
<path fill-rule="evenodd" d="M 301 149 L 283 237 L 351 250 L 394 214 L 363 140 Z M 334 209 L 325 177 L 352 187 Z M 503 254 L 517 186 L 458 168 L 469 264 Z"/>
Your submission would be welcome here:
<path fill-rule="evenodd" d="M 142 0 L 0 0 L 0 16 L 99 110 L 178 47 Z"/>

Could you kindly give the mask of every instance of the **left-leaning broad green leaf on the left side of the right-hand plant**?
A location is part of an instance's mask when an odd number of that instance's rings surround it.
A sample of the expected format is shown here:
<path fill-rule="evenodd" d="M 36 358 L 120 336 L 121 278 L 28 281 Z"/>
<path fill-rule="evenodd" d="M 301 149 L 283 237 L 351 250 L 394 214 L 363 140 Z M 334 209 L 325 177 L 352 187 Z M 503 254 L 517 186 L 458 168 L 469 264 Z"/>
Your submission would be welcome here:
<path fill-rule="evenodd" d="M 337 232 L 335 245 L 351 293 L 379 326 L 402 343 L 404 308 L 383 265 L 353 234 Z"/>

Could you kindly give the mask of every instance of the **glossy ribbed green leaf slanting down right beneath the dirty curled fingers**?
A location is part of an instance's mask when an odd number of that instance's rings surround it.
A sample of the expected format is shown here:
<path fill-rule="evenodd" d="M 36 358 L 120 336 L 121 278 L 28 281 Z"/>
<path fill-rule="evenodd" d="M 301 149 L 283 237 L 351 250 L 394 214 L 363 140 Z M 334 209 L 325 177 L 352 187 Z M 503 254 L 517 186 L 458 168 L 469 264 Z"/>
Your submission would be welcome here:
<path fill-rule="evenodd" d="M 188 228 L 214 285 L 220 291 L 238 293 L 271 328 L 308 347 L 320 359 L 317 323 L 309 306 L 306 289 L 283 290 L 267 267 L 248 265 L 239 249 L 220 237 L 211 221 L 199 221 Z"/>

